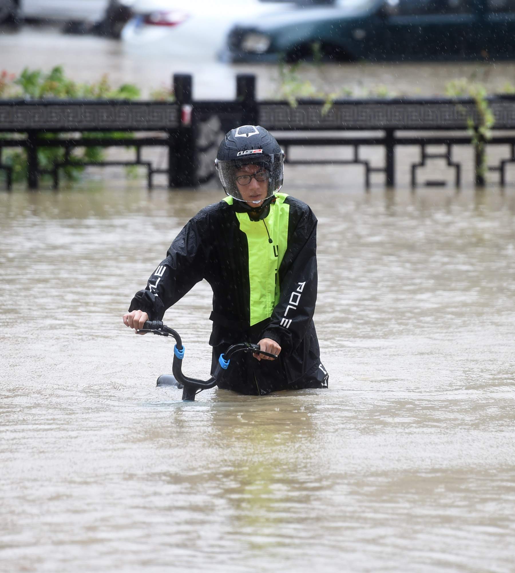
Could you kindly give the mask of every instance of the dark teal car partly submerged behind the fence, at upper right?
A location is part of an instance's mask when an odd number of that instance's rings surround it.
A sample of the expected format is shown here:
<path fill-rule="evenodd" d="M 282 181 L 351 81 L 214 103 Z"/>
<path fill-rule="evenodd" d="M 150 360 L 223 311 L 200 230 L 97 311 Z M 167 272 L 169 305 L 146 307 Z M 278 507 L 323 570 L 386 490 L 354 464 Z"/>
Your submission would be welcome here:
<path fill-rule="evenodd" d="M 515 58 L 515 0 L 335 0 L 240 22 L 226 61 Z"/>

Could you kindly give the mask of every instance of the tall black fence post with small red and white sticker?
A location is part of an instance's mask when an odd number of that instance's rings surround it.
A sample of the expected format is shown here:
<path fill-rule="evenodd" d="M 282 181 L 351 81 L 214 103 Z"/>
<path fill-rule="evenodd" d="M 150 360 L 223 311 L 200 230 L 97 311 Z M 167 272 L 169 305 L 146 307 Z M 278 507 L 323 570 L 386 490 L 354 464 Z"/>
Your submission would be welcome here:
<path fill-rule="evenodd" d="M 168 147 L 168 186 L 195 187 L 195 114 L 191 75 L 173 74 L 173 92 L 180 105 L 180 126 L 179 129 L 169 132 L 171 144 Z"/>

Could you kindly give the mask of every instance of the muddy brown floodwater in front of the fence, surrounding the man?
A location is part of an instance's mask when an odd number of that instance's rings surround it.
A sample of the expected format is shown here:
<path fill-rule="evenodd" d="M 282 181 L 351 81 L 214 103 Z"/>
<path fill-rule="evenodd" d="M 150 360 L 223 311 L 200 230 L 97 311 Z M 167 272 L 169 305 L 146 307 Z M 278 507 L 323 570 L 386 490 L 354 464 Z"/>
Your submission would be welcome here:
<path fill-rule="evenodd" d="M 182 403 L 121 315 L 220 191 L 0 193 L 0 570 L 512 572 L 515 192 L 286 192 L 328 390 Z M 207 378 L 211 293 L 165 315 Z"/>

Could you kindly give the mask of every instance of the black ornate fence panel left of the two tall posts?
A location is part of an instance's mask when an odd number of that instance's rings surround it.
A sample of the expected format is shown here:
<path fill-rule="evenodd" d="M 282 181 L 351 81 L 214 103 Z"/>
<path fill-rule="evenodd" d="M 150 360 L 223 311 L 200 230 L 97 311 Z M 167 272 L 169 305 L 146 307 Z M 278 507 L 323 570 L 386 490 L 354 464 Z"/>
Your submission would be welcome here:
<path fill-rule="evenodd" d="M 0 139 L 0 170 L 6 172 L 7 189 L 12 183 L 12 169 L 2 164 L 2 149 L 23 147 L 27 150 L 28 183 L 30 189 L 37 189 L 39 175 L 53 176 L 54 187 L 58 186 L 59 171 L 66 166 L 109 166 L 141 165 L 148 174 L 148 185 L 156 173 L 166 173 L 169 185 L 173 186 L 174 173 L 169 161 L 168 169 L 160 170 L 150 162 L 141 160 L 143 147 L 163 146 L 169 150 L 169 157 L 175 157 L 177 130 L 181 125 L 180 108 L 175 103 L 126 101 L 0 101 L 0 132 L 26 134 L 25 137 Z M 92 136 L 95 132 L 127 132 L 127 138 L 120 136 Z M 144 138 L 132 138 L 133 132 L 158 132 Z M 88 132 L 88 138 L 80 136 Z M 45 134 L 60 134 L 57 138 L 45 138 Z M 68 133 L 71 136 L 64 137 Z M 74 136 L 74 134 L 77 134 Z M 77 147 L 134 147 L 136 158 L 132 161 L 109 161 L 102 163 L 78 162 L 72 157 Z M 38 165 L 37 150 L 41 147 L 60 147 L 65 150 L 64 160 L 54 163 L 50 171 L 43 171 Z"/>

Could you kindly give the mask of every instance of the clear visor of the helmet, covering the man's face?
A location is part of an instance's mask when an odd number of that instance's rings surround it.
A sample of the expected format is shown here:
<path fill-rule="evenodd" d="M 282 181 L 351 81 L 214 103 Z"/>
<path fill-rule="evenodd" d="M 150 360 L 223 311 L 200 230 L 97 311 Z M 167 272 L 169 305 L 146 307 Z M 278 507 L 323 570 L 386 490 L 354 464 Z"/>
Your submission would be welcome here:
<path fill-rule="evenodd" d="M 225 193 L 237 201 L 260 203 L 272 197 L 283 186 L 283 158 L 284 153 L 272 155 L 249 154 L 251 157 L 231 159 L 230 161 L 216 160 L 216 168 Z M 258 183 L 268 182 L 266 195 L 252 200 L 252 179 Z"/>

